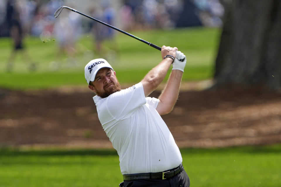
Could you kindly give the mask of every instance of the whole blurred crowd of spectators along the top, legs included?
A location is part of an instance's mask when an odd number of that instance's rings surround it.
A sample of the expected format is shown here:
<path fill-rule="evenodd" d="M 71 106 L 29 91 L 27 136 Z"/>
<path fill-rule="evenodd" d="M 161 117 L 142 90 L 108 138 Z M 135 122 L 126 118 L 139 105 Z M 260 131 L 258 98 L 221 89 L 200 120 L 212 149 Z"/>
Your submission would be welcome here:
<path fill-rule="evenodd" d="M 7 69 L 12 69 L 17 51 L 24 51 L 26 35 L 45 42 L 56 40 L 59 50 L 75 61 L 75 44 L 82 34 L 95 39 L 94 49 L 102 54 L 102 42 L 114 37 L 115 30 L 72 11 L 54 12 L 69 6 L 121 30 L 172 29 L 175 27 L 220 27 L 224 8 L 219 0 L 2 0 L 0 1 L 0 37 L 13 39 Z M 112 40 L 114 41 L 114 40 Z M 27 61 L 32 59 L 23 53 Z M 35 63 L 30 69 L 35 69 Z"/>

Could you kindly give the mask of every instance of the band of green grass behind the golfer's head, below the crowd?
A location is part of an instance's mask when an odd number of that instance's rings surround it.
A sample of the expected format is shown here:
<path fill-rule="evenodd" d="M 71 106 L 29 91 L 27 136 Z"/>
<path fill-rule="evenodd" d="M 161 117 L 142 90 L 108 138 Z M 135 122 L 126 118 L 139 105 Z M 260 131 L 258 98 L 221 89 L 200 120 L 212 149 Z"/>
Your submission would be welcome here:
<path fill-rule="evenodd" d="M 213 76 L 220 29 L 198 27 L 131 33 L 158 46 L 177 46 L 184 52 L 187 65 L 183 81 L 210 79 Z M 12 43 L 9 38 L 0 38 L 0 87 L 42 89 L 62 85 L 85 85 L 85 64 L 101 57 L 111 63 L 121 84 L 134 84 L 161 61 L 160 51 L 122 33 L 116 33 L 114 41 L 105 42 L 107 53 L 103 55 L 92 50 L 92 36 L 84 35 L 76 45 L 76 63 L 72 63 L 65 55 L 59 60 L 56 58 L 58 41 L 53 41 L 52 38 L 43 43 L 40 38 L 27 37 L 24 43 L 27 53 L 37 63 L 37 71 L 29 72 L 30 60 L 26 60 L 19 53 L 16 55 L 13 70 L 7 72 L 6 64 Z M 113 49 L 117 49 L 116 52 Z"/>

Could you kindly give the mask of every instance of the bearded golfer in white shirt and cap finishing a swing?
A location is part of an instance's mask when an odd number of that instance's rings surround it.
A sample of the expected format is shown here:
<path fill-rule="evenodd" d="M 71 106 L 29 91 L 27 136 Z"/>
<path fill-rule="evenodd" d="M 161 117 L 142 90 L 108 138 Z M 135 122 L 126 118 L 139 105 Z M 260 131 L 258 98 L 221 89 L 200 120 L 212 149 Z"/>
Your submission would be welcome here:
<path fill-rule="evenodd" d="M 177 101 L 186 56 L 176 47 L 166 46 L 162 46 L 161 55 L 163 60 L 127 89 L 121 89 L 116 72 L 106 60 L 91 60 L 85 66 L 88 87 L 96 94 L 93 99 L 99 120 L 119 155 L 124 178 L 119 186 L 190 184 L 179 148 L 160 116 L 171 112 Z M 172 72 L 159 98 L 148 97 L 171 65 Z"/>

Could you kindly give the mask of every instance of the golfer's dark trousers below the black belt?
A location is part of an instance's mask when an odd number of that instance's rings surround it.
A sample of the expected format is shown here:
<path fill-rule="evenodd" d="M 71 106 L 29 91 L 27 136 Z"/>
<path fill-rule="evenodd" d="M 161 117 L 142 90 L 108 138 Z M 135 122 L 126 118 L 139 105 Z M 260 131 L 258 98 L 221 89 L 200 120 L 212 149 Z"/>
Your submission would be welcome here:
<path fill-rule="evenodd" d="M 145 179 L 124 181 L 124 187 L 189 187 L 190 181 L 185 170 L 169 179 Z"/>

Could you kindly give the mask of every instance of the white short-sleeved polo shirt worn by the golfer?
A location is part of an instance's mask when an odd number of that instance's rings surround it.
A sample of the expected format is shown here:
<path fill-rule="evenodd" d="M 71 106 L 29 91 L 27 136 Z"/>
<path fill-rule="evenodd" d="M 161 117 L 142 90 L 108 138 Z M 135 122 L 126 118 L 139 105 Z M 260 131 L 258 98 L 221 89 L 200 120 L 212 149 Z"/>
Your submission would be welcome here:
<path fill-rule="evenodd" d="M 122 174 L 162 172 L 181 164 L 179 148 L 156 110 L 159 99 L 145 98 L 141 83 L 93 99 Z"/>

